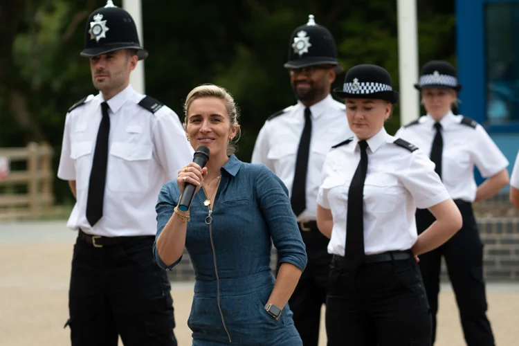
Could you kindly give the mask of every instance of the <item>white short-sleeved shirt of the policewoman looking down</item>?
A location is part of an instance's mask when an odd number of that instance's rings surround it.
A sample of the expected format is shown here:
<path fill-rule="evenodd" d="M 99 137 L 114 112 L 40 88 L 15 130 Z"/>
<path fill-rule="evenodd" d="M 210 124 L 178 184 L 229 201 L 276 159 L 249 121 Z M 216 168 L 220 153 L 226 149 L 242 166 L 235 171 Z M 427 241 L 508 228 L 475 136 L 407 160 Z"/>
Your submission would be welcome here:
<path fill-rule="evenodd" d="M 364 183 L 364 250 L 366 255 L 410 249 L 417 240 L 416 208 L 446 201 L 448 192 L 435 165 L 414 145 L 397 145 L 385 129 L 367 140 Z M 331 210 L 334 226 L 328 253 L 345 255 L 348 190 L 361 161 L 358 138 L 331 149 L 322 168 L 317 203 Z"/>

